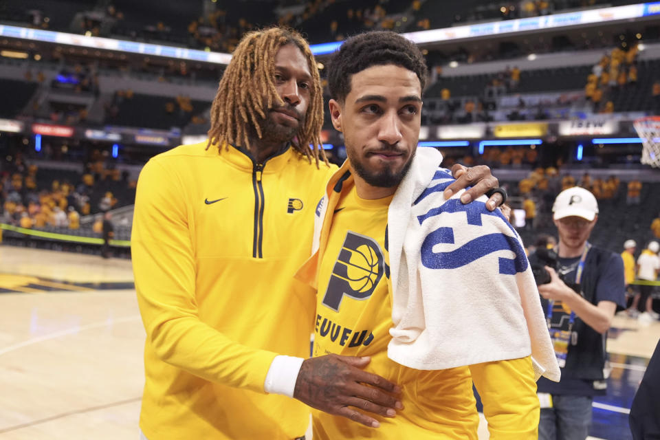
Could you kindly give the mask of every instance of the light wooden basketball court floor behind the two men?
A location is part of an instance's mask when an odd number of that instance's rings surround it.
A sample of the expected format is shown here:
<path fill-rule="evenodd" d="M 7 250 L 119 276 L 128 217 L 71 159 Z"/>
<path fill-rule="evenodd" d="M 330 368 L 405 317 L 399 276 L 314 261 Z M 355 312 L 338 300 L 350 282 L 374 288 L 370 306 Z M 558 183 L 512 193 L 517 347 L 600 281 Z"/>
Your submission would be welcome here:
<path fill-rule="evenodd" d="M 593 439 L 632 438 L 628 411 L 660 338 L 660 322 L 614 327 Z M 0 245 L 1 440 L 137 440 L 143 343 L 130 261 Z"/>

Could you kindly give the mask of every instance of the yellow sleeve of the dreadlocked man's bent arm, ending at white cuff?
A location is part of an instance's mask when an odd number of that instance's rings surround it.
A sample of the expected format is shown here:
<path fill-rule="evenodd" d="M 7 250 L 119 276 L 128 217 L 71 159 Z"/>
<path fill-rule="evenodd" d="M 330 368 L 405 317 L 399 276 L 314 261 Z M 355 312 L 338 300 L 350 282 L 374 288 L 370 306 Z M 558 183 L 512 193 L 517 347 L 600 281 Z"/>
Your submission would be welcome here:
<path fill-rule="evenodd" d="M 160 360 L 179 369 L 264 393 L 276 353 L 245 347 L 199 319 L 194 228 L 188 225 L 184 188 L 175 173 L 154 160 L 144 166 L 137 184 L 131 254 L 147 344 Z"/>

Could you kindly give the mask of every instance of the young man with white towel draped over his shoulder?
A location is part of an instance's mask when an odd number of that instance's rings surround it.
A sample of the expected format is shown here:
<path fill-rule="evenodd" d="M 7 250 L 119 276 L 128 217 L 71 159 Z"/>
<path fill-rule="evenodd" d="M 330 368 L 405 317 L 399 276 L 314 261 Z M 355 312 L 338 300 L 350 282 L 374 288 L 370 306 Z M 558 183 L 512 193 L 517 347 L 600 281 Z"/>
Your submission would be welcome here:
<path fill-rule="evenodd" d="M 316 411 L 314 438 L 476 440 L 474 381 L 491 439 L 536 439 L 536 378 L 559 380 L 538 291 L 505 217 L 443 193 L 441 154 L 417 148 L 425 83 L 421 53 L 393 32 L 347 40 L 329 68 L 349 159 L 298 272 L 317 292 L 314 356 L 370 356 L 403 408 L 379 430 Z M 303 364 L 296 389 L 313 373 Z"/>

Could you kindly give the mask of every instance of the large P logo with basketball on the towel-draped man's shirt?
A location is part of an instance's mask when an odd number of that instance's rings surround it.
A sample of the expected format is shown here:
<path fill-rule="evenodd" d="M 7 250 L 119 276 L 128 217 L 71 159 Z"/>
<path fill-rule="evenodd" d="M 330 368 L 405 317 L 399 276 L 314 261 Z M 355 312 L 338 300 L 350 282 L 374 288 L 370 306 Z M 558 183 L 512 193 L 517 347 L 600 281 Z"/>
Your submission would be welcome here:
<path fill-rule="evenodd" d="M 383 276 L 383 252 L 368 236 L 347 232 L 344 245 L 323 298 L 323 305 L 339 311 L 344 295 L 364 300 Z"/>

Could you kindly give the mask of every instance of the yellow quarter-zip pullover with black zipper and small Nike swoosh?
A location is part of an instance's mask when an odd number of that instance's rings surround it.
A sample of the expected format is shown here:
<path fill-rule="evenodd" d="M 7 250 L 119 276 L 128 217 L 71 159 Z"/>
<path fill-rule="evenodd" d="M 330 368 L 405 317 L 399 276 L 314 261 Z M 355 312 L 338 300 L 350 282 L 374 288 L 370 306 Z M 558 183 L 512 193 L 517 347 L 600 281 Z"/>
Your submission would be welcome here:
<path fill-rule="evenodd" d="M 144 166 L 131 252 L 149 440 L 305 433 L 308 408 L 266 394 L 264 381 L 276 355 L 309 357 L 315 298 L 293 275 L 333 170 L 293 148 L 256 164 L 206 142 Z"/>

